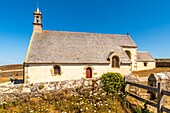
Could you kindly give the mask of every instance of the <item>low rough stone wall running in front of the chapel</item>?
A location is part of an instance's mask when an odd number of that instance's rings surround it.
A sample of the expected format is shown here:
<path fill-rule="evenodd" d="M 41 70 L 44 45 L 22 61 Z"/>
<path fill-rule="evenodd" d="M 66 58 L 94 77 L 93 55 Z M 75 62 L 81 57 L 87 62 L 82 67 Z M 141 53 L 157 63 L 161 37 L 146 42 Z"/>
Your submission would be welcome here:
<path fill-rule="evenodd" d="M 18 84 L 0 86 L 0 104 L 13 100 L 25 101 L 32 97 L 47 97 L 60 92 L 76 95 L 84 90 L 101 91 L 103 83 L 100 78 L 69 80 L 49 83 Z M 50 95 L 49 95 L 50 94 Z"/>

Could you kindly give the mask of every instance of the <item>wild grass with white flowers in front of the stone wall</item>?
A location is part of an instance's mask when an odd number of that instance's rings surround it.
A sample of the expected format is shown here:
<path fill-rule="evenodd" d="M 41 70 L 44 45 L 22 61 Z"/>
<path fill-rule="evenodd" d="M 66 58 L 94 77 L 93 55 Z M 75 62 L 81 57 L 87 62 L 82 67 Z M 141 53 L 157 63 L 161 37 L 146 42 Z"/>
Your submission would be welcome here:
<path fill-rule="evenodd" d="M 67 89 L 9 101 L 0 104 L 0 113 L 131 113 L 124 109 L 123 99 L 116 94 L 107 95 L 97 89 L 76 92 Z"/>

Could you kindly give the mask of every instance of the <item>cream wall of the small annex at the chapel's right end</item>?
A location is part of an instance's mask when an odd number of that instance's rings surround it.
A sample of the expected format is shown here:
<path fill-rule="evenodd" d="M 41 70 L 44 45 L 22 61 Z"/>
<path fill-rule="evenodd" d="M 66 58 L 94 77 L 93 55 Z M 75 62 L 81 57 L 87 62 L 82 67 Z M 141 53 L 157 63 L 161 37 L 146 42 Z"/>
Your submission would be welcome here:
<path fill-rule="evenodd" d="M 147 62 L 147 66 L 144 66 L 144 62 L 137 62 L 137 71 L 149 70 L 149 69 L 153 69 L 155 67 L 156 67 L 155 62 Z"/>

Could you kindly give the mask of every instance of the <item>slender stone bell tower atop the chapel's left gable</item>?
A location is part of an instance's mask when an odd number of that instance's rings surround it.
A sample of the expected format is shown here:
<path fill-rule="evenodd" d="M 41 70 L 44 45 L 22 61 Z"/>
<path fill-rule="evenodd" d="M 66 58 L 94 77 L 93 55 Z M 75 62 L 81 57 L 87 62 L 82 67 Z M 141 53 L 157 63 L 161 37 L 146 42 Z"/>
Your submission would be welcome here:
<path fill-rule="evenodd" d="M 33 32 L 42 32 L 42 14 L 37 6 L 37 10 L 34 11 Z"/>

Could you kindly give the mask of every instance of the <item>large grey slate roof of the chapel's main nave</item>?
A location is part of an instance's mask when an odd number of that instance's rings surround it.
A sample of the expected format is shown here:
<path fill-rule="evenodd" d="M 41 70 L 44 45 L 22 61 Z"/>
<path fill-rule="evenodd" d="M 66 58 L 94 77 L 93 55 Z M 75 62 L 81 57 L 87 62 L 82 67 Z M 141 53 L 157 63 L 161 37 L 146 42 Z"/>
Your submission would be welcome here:
<path fill-rule="evenodd" d="M 137 47 L 128 35 L 46 31 L 34 33 L 26 63 L 109 63 L 117 52 L 122 63 L 131 63 L 121 46 Z"/>

